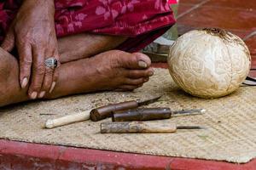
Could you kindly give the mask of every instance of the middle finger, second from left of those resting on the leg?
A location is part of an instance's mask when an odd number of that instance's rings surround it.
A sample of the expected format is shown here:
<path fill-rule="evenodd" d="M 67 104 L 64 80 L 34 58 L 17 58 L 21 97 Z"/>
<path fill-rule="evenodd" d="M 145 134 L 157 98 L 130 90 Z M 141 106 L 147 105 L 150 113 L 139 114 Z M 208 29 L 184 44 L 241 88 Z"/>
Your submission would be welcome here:
<path fill-rule="evenodd" d="M 42 48 L 33 47 L 32 55 L 32 83 L 29 87 L 28 94 L 31 99 L 36 99 L 44 81 L 44 51 Z"/>

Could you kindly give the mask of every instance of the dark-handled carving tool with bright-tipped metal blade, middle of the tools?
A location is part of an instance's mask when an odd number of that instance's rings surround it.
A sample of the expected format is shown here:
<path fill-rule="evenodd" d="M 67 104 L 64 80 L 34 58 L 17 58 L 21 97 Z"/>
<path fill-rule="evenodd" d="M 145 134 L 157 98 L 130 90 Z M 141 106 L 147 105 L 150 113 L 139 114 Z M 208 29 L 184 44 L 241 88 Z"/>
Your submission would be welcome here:
<path fill-rule="evenodd" d="M 112 116 L 113 122 L 131 122 L 131 121 L 150 121 L 169 119 L 171 116 L 192 116 L 203 114 L 206 110 L 182 110 L 171 111 L 168 107 L 162 108 L 141 108 L 128 111 L 114 111 Z"/>

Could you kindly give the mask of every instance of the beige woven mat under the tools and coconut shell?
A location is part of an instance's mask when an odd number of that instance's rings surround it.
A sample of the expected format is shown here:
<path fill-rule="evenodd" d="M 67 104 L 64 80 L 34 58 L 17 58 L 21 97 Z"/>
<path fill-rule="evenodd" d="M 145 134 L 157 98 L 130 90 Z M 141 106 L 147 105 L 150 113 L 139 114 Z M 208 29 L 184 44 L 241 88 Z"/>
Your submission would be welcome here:
<path fill-rule="evenodd" d="M 49 118 L 157 94 L 163 97 L 150 106 L 207 109 L 204 115 L 173 117 L 162 122 L 208 128 L 177 133 L 101 134 L 100 122 L 90 121 L 42 128 Z M 49 113 L 55 115 L 44 115 Z M 241 87 L 220 99 L 199 99 L 177 88 L 167 70 L 156 69 L 154 77 L 135 92 L 84 94 L 0 109 L 0 139 L 243 163 L 256 157 L 256 88 Z"/>

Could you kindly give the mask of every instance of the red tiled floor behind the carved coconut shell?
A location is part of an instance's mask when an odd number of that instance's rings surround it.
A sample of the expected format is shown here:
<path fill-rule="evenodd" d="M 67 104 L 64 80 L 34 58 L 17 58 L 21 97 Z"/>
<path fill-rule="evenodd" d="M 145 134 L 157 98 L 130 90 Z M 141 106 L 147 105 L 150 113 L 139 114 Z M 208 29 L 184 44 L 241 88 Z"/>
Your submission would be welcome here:
<path fill-rule="evenodd" d="M 196 28 L 219 27 L 244 39 L 256 69 L 256 0 L 180 0 L 177 13 L 179 35 Z M 250 75 L 256 77 L 256 71 Z"/>

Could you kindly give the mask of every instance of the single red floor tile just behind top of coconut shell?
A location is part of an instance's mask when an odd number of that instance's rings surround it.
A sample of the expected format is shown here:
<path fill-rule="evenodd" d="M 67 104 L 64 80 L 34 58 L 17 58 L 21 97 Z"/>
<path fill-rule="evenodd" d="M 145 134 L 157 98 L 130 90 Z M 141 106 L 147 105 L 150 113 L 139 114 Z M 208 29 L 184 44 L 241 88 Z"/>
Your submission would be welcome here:
<path fill-rule="evenodd" d="M 237 8 L 220 8 L 202 5 L 177 20 L 177 24 L 192 27 L 220 27 L 226 30 L 256 30 L 256 10 L 247 12 Z"/>

